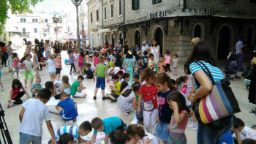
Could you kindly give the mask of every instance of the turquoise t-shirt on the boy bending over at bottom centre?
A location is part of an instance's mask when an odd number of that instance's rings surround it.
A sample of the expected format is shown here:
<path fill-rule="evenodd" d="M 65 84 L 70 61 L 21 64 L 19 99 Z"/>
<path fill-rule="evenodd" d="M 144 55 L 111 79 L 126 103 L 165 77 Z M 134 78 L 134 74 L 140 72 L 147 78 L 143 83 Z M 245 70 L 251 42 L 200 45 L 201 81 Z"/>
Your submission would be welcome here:
<path fill-rule="evenodd" d="M 105 134 L 110 134 L 113 130 L 116 130 L 119 126 L 121 126 L 121 118 L 118 117 L 110 117 L 102 119 L 103 121 L 103 132 Z M 94 134 L 97 134 L 97 131 L 94 129 Z"/>

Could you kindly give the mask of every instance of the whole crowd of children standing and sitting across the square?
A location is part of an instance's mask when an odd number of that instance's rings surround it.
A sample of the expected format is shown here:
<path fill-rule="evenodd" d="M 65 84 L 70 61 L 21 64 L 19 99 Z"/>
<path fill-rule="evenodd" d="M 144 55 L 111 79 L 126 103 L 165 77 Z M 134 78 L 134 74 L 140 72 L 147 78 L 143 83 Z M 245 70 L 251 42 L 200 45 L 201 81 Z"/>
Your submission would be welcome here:
<path fill-rule="evenodd" d="M 187 143 L 185 129 L 197 129 L 197 121 L 189 100 L 195 92 L 194 78 L 192 75 L 184 75 L 173 80 L 167 75 L 171 72 L 170 65 L 173 65 L 173 75 L 178 75 L 178 55 L 174 54 L 171 58 L 169 50 L 166 51 L 165 56 L 159 56 L 159 61 L 155 61 L 154 54 L 148 54 L 147 51 L 144 51 L 143 56 L 138 56 L 138 58 L 134 56 L 133 50 L 129 50 L 125 58 L 122 57 L 120 51 L 116 50 L 108 50 L 106 55 L 94 52 L 91 58 L 89 51 L 78 53 L 78 50 L 69 50 L 69 64 L 71 65 L 69 74 L 72 75 L 72 70 L 75 74 L 79 74 L 78 79 L 72 84 L 69 84 L 67 75 L 59 81 L 62 70 L 61 54 L 57 53 L 55 57 L 49 54 L 48 61 L 38 62 L 37 51 L 32 50 L 32 53 L 34 53 L 33 61 L 31 61 L 32 56 L 27 54 L 22 62 L 25 75 L 24 88 L 20 80 L 12 80 L 12 90 L 8 100 L 9 108 L 22 104 L 23 101 L 20 98 L 24 94 L 28 97 L 19 115 L 20 143 L 41 143 L 43 120 L 51 135 L 50 143 L 92 144 L 96 140 L 97 132 L 104 132 L 105 143 L 110 140 L 113 144 L 158 144 L 157 137 L 164 144 Z M 13 53 L 13 57 L 15 71 L 12 77 L 16 73 L 19 78 L 18 61 L 20 60 L 17 53 Z M 93 64 L 90 64 L 91 62 Z M 41 85 L 39 64 L 48 65 L 50 81 L 45 83 L 45 88 Z M 36 75 L 33 75 L 32 66 Z M 31 94 L 36 99 L 29 99 L 29 94 L 25 89 L 28 75 L 31 76 Z M 34 76 L 37 77 L 35 83 L 33 83 Z M 101 88 L 102 100 L 111 99 L 111 102 L 117 102 L 118 110 L 124 115 L 134 112 L 138 124 L 127 126 L 118 117 L 105 119 L 97 117 L 91 122 L 84 121 L 80 126 L 61 126 L 54 132 L 45 103 L 51 96 L 60 99 L 56 105 L 56 110 L 61 117 L 60 121 L 76 121 L 78 105 L 72 98 L 86 97 L 83 93 L 86 89 L 86 86 L 83 86 L 85 78 L 96 81 L 93 99 L 97 99 L 97 91 Z M 110 80 L 113 81 L 114 86 L 110 86 L 111 92 L 105 95 L 105 83 L 109 83 Z M 189 124 L 189 121 L 192 122 Z M 92 128 L 94 134 L 91 140 L 83 140 L 82 137 L 89 134 Z M 233 138 L 230 137 L 235 133 L 236 140 L 240 144 L 242 140 L 239 132 L 242 129 L 244 129 L 244 122 L 236 118 L 232 131 L 223 137 L 223 143 L 229 143 L 230 140 L 233 142 Z"/>

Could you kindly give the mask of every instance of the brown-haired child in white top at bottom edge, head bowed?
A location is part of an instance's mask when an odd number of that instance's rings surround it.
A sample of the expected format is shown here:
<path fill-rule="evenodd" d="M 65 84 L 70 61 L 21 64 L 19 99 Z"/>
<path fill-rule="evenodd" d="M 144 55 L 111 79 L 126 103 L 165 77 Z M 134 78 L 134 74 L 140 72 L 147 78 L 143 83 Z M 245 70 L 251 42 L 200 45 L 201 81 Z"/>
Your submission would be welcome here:
<path fill-rule="evenodd" d="M 143 126 L 139 126 L 138 124 L 130 124 L 127 128 L 127 134 L 130 138 L 129 143 L 160 144 L 157 137 L 145 132 Z"/>

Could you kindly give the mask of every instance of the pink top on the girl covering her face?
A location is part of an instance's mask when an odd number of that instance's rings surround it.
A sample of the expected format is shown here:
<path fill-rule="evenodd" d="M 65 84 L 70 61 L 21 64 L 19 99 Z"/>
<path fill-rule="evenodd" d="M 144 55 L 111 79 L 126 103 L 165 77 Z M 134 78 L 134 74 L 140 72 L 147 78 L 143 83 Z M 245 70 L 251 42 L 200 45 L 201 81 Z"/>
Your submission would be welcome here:
<path fill-rule="evenodd" d="M 181 121 L 180 124 L 175 123 L 174 115 L 172 115 L 172 118 L 170 119 L 170 133 L 172 133 L 172 134 L 184 134 L 185 133 L 187 121 L 189 120 L 189 114 L 187 113 L 187 110 L 182 110 L 181 113 L 184 113 L 186 115 L 186 118 L 184 118 L 184 120 Z"/>

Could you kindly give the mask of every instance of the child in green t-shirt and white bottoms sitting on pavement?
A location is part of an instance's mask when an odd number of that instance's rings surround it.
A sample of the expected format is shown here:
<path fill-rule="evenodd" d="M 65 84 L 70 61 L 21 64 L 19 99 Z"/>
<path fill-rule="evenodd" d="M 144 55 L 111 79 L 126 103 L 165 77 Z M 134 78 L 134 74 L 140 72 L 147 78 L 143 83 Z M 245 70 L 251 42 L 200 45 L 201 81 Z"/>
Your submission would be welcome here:
<path fill-rule="evenodd" d="M 74 96 L 74 97 L 86 97 L 86 94 L 82 93 L 83 89 L 86 89 L 86 87 L 83 86 L 83 80 L 84 80 L 83 75 L 79 75 L 78 80 L 75 80 L 75 82 L 72 83 L 72 86 L 70 88 L 72 96 Z"/>

